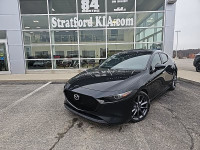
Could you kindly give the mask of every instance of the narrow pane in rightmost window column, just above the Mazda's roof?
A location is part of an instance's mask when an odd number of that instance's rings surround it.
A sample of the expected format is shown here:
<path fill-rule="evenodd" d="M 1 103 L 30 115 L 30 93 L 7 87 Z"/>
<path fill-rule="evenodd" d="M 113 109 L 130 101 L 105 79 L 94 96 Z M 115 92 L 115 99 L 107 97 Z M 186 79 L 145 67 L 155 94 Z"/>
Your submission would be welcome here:
<path fill-rule="evenodd" d="M 136 49 L 162 50 L 161 43 L 136 43 Z"/>

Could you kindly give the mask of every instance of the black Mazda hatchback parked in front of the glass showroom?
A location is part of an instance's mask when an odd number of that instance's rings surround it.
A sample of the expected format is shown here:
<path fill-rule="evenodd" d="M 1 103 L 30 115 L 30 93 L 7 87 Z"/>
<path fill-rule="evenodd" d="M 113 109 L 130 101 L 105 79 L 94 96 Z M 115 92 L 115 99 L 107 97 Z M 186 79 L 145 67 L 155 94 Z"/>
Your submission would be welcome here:
<path fill-rule="evenodd" d="M 64 86 L 65 107 L 99 123 L 143 120 L 150 102 L 176 87 L 177 67 L 162 51 L 131 50 L 83 71 Z"/>

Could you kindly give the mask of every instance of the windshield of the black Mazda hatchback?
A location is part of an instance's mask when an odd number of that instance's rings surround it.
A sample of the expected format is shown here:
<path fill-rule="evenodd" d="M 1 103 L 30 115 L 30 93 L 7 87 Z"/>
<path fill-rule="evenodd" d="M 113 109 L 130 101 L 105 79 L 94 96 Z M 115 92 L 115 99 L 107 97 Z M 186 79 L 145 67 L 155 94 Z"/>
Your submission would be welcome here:
<path fill-rule="evenodd" d="M 99 68 L 119 70 L 144 70 L 151 53 L 133 52 L 119 53 L 111 56 L 103 62 Z"/>

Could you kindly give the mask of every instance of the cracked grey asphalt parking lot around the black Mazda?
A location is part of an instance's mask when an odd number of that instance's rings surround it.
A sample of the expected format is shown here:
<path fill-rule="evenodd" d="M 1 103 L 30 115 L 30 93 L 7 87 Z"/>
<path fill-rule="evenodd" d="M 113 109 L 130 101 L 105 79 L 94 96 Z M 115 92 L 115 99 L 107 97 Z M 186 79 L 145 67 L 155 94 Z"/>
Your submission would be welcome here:
<path fill-rule="evenodd" d="M 61 83 L 0 83 L 2 150 L 199 150 L 200 86 L 179 81 L 139 123 L 101 125 L 63 106 Z"/>

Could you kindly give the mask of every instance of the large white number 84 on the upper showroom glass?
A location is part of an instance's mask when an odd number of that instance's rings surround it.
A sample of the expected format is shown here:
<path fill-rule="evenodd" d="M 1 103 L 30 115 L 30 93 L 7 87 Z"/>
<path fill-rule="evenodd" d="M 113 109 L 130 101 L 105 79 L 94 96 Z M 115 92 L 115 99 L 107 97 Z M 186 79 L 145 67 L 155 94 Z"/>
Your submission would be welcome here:
<path fill-rule="evenodd" d="M 82 12 L 99 12 L 99 0 L 81 0 Z"/>

